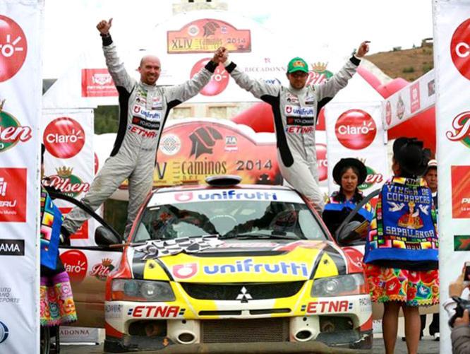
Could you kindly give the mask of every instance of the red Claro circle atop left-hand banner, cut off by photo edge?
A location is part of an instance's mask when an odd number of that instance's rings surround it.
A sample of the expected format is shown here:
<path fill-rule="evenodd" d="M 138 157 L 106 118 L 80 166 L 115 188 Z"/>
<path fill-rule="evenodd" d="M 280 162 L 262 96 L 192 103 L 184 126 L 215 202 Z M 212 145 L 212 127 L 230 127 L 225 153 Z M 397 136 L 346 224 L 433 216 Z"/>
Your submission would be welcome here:
<path fill-rule="evenodd" d="M 11 18 L 0 15 L 0 82 L 20 71 L 28 53 L 23 30 Z"/>

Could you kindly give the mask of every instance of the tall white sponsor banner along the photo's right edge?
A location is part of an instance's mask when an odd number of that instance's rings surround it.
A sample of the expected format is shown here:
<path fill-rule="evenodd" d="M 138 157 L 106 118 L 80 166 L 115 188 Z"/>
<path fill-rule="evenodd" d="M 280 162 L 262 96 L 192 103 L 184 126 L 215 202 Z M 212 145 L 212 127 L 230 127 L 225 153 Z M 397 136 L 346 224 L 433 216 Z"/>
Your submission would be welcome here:
<path fill-rule="evenodd" d="M 470 261 L 470 3 L 434 1 L 440 303 Z M 442 307 L 441 307 L 442 309 Z M 440 353 L 451 353 L 447 314 Z"/>

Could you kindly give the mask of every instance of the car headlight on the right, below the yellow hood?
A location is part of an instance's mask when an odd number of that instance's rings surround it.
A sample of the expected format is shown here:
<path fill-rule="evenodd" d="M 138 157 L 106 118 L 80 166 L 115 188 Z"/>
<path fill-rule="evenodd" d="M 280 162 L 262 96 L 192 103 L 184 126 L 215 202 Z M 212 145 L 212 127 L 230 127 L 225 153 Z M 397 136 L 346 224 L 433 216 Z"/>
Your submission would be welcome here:
<path fill-rule="evenodd" d="M 313 281 L 311 297 L 358 295 L 367 293 L 366 281 L 362 273 L 345 276 L 331 276 Z"/>

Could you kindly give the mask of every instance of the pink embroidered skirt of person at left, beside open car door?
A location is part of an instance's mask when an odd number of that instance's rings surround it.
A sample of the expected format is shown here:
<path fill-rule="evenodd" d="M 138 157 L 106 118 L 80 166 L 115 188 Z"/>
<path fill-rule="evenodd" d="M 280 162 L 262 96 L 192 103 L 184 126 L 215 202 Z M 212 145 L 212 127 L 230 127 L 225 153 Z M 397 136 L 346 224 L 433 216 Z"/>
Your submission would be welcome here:
<path fill-rule="evenodd" d="M 41 277 L 40 306 L 41 326 L 59 326 L 77 320 L 67 272 Z"/>

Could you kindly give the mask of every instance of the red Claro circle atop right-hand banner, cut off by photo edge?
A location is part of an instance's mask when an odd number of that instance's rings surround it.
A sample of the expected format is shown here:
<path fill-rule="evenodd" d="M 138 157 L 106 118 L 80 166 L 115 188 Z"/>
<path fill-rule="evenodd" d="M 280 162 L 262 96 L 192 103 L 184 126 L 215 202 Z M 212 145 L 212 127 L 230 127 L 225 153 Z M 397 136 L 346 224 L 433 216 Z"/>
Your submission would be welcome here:
<path fill-rule="evenodd" d="M 470 18 L 464 20 L 452 35 L 450 56 L 455 67 L 470 80 Z"/>

